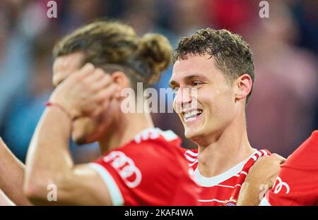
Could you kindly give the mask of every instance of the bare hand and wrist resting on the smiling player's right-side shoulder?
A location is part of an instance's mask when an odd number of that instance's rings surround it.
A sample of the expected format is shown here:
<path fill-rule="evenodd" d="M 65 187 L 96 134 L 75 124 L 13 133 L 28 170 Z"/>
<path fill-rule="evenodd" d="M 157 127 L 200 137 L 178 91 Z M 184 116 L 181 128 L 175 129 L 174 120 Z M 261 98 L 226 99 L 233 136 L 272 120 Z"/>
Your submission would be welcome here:
<path fill-rule="evenodd" d="M 240 190 L 238 206 L 259 205 L 265 193 L 273 187 L 273 183 L 281 170 L 285 158 L 271 154 L 258 159 L 249 169 L 247 178 Z"/>

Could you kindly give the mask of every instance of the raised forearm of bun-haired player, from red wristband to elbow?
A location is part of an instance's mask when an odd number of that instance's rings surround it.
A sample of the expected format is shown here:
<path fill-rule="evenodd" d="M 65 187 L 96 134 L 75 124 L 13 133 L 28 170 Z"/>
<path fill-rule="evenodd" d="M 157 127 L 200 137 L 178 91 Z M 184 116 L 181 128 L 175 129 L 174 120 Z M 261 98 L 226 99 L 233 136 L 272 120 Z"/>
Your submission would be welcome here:
<path fill-rule="evenodd" d="M 56 107 L 45 110 L 30 142 L 25 172 L 25 193 L 37 200 L 47 198 L 47 185 L 57 185 L 73 169 L 69 153 L 71 120 Z"/>

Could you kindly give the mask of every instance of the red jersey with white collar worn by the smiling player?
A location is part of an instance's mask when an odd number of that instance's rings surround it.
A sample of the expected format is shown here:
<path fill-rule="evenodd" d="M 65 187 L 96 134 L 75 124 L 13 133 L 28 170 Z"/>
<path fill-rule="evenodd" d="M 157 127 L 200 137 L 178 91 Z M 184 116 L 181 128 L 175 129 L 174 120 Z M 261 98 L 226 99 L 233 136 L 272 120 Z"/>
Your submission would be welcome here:
<path fill-rule="evenodd" d="M 198 150 L 184 149 L 184 155 L 188 159 L 189 166 L 194 169 L 196 183 L 201 186 L 199 205 L 236 205 L 242 183 L 244 183 L 249 169 L 259 157 L 271 154 L 266 149 L 257 150 L 228 171 L 218 176 L 206 178 L 198 169 Z"/>

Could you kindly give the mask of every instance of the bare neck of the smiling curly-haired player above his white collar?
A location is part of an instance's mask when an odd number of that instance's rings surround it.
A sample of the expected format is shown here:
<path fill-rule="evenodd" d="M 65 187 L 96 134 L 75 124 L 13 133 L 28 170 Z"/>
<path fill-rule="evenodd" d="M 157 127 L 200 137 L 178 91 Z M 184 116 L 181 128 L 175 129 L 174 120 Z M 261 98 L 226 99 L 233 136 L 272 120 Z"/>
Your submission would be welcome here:
<path fill-rule="evenodd" d="M 252 152 L 243 117 L 218 135 L 210 135 L 206 144 L 199 145 L 198 168 L 205 177 L 217 176 L 247 159 Z"/>

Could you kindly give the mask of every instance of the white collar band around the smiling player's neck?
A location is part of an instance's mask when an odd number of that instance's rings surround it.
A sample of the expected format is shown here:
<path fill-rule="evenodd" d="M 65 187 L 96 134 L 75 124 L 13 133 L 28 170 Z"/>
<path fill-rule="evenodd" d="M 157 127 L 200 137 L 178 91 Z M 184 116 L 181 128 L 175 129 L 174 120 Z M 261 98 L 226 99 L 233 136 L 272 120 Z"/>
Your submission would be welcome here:
<path fill-rule="evenodd" d="M 233 166 L 228 171 L 221 173 L 218 176 L 213 176 L 213 177 L 202 176 L 200 171 L 199 171 L 199 166 L 197 166 L 196 170 L 194 171 L 194 176 L 197 180 L 197 183 L 199 183 L 199 185 L 204 186 L 204 187 L 212 187 L 212 186 L 218 185 L 219 183 L 222 183 L 222 182 L 228 180 L 232 176 L 237 175 L 237 173 L 240 173 L 240 171 L 242 171 L 242 169 L 243 169 L 243 166 L 247 163 L 247 161 L 249 159 L 251 159 L 254 156 L 254 154 L 256 152 L 257 152 L 257 149 L 254 149 L 254 152 L 247 159 L 240 162 L 240 164 Z"/>

